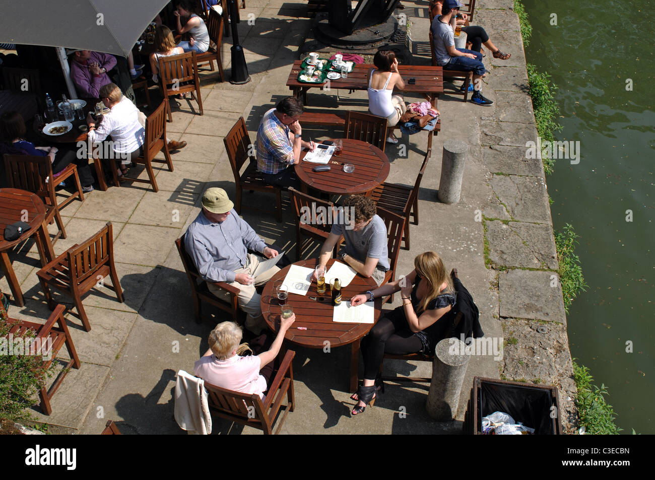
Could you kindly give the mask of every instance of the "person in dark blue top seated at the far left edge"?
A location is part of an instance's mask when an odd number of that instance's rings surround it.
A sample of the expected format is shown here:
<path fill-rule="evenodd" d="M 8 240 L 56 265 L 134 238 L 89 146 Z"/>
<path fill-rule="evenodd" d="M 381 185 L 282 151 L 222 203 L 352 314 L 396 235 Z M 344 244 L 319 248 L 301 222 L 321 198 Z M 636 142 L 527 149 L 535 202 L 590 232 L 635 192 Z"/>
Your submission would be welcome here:
<path fill-rule="evenodd" d="M 0 158 L 5 154 L 50 157 L 54 177 L 66 166 L 75 163 L 83 192 L 88 193 L 93 190 L 93 175 L 86 157 L 77 158 L 75 150 L 65 147 L 62 147 L 62 149 L 35 147 L 33 143 L 25 139 L 26 133 L 25 121 L 20 113 L 16 111 L 3 113 L 2 117 L 0 117 Z"/>

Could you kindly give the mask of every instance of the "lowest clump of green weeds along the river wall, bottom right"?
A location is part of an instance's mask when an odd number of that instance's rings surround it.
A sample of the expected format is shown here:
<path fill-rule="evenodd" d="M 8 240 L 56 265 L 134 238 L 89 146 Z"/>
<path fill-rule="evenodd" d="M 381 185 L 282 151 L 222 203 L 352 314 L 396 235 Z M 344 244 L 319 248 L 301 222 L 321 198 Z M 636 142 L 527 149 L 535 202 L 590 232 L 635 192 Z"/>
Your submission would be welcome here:
<path fill-rule="evenodd" d="M 612 405 L 608 405 L 605 401 L 605 396 L 609 395 L 605 384 L 601 384 L 598 388 L 593 384 L 589 369 L 584 365 L 578 365 L 575 361 L 573 377 L 578 388 L 576 406 L 580 416 L 580 426 L 584 426 L 586 432 L 592 435 L 618 435 L 622 432 L 623 429 L 614 424 L 616 417 Z"/>

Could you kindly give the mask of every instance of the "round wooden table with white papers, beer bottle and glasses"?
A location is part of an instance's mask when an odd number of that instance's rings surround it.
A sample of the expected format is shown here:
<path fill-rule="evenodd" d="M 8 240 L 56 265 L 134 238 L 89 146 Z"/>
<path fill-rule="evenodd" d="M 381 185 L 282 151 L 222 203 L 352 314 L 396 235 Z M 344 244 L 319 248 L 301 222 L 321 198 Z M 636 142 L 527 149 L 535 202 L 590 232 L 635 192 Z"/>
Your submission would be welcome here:
<path fill-rule="evenodd" d="M 327 268 L 334 262 L 334 259 L 329 260 L 327 262 Z M 316 259 L 301 260 L 293 265 L 314 268 L 316 267 Z M 261 312 L 272 331 L 277 331 L 280 326 L 279 315 L 281 310 L 280 305 L 278 305 L 278 299 L 273 293 L 273 285 L 276 280 L 284 280 L 289 268 L 291 268 L 291 265 L 282 268 L 282 270 L 272 276 L 261 293 Z M 377 284 L 375 284 L 373 278 L 364 278 L 356 275 L 347 287 L 341 289 L 341 301 L 350 301 L 350 298 L 354 297 L 354 295 L 375 288 L 377 288 Z M 316 300 L 312 300 L 310 297 L 314 297 Z M 323 301 L 318 301 L 318 299 L 323 299 Z M 293 322 L 291 328 L 284 335 L 285 341 L 309 348 L 324 348 L 326 346 L 324 342 L 326 341 L 329 342 L 330 348 L 347 344 L 352 345 L 349 388 L 350 392 L 355 392 L 357 390 L 358 380 L 360 339 L 369 333 L 374 323 L 333 322 L 333 306 L 329 286 L 327 286 L 324 295 L 319 295 L 316 293 L 316 282 L 312 282 L 307 295 L 303 296 L 290 293 L 287 299 L 287 305 L 293 306 L 295 322 Z M 375 314 L 373 315 L 375 322 L 380 318 L 381 308 L 382 299 L 375 299 Z M 297 327 L 305 327 L 307 330 L 299 330 Z"/>

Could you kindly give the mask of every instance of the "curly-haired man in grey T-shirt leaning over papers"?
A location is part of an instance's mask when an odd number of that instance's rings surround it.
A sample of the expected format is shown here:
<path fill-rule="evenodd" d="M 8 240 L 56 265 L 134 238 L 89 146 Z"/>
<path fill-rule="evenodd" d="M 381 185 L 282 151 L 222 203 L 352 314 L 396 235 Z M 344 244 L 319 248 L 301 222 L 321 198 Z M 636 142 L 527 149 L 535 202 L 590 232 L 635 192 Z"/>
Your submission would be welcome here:
<path fill-rule="evenodd" d="M 317 265 L 325 267 L 339 237 L 343 235 L 346 247 L 339 252 L 338 259 L 365 278 L 373 278 L 380 286 L 384 280 L 384 272 L 390 268 L 386 248 L 386 225 L 375 213 L 375 202 L 364 195 L 350 196 L 343 202 L 343 208 L 345 212 L 353 212 L 354 219 L 353 215 L 341 215 L 339 223 L 332 225 L 332 230 L 321 248 Z M 354 220 L 354 224 L 348 223 L 348 220 Z"/>

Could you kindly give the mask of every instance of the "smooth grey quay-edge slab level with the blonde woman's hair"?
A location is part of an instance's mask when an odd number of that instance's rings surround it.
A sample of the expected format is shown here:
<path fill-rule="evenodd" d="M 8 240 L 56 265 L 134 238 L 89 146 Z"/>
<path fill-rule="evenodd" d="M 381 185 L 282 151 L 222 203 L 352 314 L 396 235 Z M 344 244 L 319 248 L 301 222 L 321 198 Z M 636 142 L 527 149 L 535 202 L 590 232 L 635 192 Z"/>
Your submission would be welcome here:
<path fill-rule="evenodd" d="M 552 285 L 555 286 L 552 286 Z M 566 325 L 559 276 L 553 272 L 509 270 L 498 273 L 501 318 L 529 318 Z"/>

